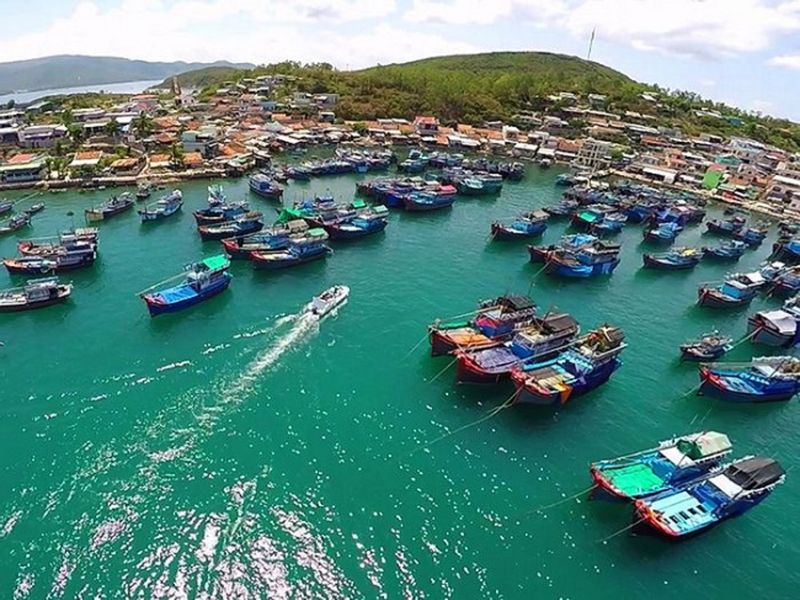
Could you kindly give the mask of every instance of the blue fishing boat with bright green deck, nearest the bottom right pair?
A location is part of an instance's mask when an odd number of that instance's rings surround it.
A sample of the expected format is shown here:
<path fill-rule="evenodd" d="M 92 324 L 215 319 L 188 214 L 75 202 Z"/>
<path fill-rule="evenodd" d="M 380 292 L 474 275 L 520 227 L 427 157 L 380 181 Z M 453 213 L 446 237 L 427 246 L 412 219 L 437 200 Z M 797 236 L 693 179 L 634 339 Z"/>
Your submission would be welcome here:
<path fill-rule="evenodd" d="M 674 489 L 719 467 L 733 446 L 727 435 L 702 431 L 655 448 L 592 463 L 592 498 L 632 501 Z"/>

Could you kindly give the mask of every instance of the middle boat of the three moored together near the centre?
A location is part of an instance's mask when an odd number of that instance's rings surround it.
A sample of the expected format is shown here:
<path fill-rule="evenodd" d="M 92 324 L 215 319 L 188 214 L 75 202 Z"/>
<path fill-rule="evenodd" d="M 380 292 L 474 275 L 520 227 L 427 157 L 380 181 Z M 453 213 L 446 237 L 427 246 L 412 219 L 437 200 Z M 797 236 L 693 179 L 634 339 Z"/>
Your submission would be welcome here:
<path fill-rule="evenodd" d="M 534 317 L 509 342 L 489 348 L 456 350 L 456 381 L 499 383 L 524 361 L 544 360 L 565 350 L 579 330 L 578 322 L 568 314 Z"/>

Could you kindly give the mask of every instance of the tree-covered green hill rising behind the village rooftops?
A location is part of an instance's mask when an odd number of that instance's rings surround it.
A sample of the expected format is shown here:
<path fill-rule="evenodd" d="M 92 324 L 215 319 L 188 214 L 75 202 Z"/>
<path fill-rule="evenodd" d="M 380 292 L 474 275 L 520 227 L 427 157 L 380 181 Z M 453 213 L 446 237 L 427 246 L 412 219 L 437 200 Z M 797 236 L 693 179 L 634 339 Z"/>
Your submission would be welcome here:
<path fill-rule="evenodd" d="M 223 81 L 283 73 L 299 81 L 289 91 L 332 92 L 346 119 L 413 117 L 433 113 L 445 121 L 480 122 L 508 118 L 521 108 L 536 108 L 557 91 L 610 93 L 643 89 L 629 77 L 601 64 L 548 52 L 492 52 L 442 56 L 409 63 L 338 71 L 328 64 L 284 62 L 249 70 L 203 69 L 179 76 L 184 87 L 203 87 L 206 95 Z"/>

